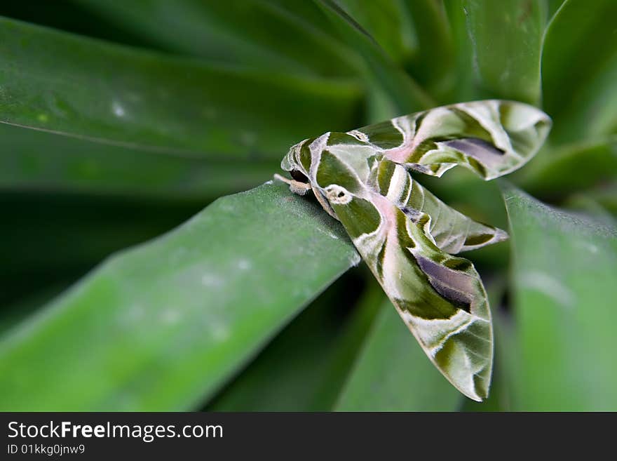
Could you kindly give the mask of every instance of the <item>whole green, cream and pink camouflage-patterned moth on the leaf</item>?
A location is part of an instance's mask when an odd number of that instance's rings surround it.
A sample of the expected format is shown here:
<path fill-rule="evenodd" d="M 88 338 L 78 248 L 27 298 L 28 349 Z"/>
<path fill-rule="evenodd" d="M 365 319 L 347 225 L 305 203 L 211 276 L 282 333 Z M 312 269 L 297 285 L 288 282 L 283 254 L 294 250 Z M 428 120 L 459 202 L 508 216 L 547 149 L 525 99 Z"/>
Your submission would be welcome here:
<path fill-rule="evenodd" d="M 416 173 L 463 166 L 491 180 L 529 161 L 551 126 L 521 102 L 437 107 L 291 147 L 281 163 L 292 192 L 313 192 L 339 220 L 426 355 L 475 401 L 488 396 L 493 331 L 473 264 L 454 256 L 503 241 L 501 229 L 440 201 Z"/>

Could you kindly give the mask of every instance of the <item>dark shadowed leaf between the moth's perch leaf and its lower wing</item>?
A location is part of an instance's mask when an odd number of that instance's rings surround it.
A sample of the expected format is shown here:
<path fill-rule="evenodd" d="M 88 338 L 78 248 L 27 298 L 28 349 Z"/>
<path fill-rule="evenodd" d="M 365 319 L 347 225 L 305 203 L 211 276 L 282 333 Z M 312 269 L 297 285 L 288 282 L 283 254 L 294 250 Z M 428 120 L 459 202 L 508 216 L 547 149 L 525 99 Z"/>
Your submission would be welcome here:
<path fill-rule="evenodd" d="M 358 286 L 357 276 L 341 277 L 206 409 L 331 410 L 384 296 L 377 283 L 368 293 Z"/>

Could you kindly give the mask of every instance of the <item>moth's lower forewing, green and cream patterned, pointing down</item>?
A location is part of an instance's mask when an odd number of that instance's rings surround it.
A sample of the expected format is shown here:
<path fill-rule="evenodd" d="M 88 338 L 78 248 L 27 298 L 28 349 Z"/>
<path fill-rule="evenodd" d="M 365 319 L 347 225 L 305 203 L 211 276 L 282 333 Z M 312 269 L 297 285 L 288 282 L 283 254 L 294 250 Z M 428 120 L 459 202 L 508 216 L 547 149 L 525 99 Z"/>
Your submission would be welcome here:
<path fill-rule="evenodd" d="M 459 391 L 481 401 L 491 378 L 493 335 L 473 265 L 440 250 L 417 222 L 381 194 L 334 211 L 428 358 Z"/>

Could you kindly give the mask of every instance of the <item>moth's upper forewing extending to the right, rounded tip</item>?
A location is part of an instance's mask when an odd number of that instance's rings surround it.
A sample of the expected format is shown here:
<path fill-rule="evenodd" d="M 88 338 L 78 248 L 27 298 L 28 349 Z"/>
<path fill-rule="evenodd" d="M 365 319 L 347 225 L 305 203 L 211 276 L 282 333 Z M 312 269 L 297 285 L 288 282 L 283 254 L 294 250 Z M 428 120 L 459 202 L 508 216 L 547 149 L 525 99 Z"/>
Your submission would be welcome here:
<path fill-rule="evenodd" d="M 356 131 L 406 168 L 441 176 L 460 165 L 491 180 L 527 163 L 551 124 L 536 107 L 484 100 L 436 107 Z"/>

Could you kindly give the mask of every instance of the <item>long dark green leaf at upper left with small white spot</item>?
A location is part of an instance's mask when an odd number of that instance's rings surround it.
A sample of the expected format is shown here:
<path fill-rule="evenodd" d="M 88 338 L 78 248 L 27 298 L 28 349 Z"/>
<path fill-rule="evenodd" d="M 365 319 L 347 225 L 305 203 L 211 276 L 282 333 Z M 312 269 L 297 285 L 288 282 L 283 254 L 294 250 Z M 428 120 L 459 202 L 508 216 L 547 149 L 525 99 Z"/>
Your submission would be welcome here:
<path fill-rule="evenodd" d="M 0 121 L 157 152 L 273 158 L 360 116 L 353 83 L 168 58 L 0 19 Z"/>

